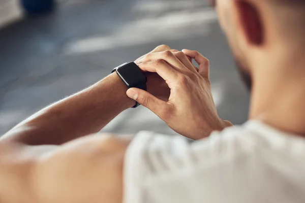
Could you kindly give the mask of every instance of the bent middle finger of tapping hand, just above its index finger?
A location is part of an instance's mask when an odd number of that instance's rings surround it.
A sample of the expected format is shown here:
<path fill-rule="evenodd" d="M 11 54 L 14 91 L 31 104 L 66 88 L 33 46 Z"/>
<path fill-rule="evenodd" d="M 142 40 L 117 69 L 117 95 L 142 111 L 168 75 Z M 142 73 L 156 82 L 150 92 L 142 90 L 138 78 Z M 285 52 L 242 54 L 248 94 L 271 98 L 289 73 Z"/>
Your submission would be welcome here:
<path fill-rule="evenodd" d="M 157 53 L 150 53 L 138 62 L 147 62 L 158 59 L 165 60 L 168 64 L 170 64 L 175 70 L 179 71 L 180 73 L 190 73 L 190 70 L 169 50 Z"/>

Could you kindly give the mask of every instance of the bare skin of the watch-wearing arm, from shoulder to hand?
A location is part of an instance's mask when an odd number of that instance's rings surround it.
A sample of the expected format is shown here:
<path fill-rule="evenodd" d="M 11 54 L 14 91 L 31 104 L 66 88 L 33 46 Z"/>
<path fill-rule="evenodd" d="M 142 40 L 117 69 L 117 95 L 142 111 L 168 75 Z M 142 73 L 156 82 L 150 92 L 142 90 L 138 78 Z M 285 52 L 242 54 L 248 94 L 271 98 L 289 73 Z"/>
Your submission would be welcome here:
<path fill-rule="evenodd" d="M 166 45 L 151 53 L 164 51 L 197 71 L 191 57 Z M 148 92 L 168 101 L 166 82 L 155 73 L 145 74 Z M 121 202 L 124 155 L 130 140 L 90 134 L 134 106 L 126 91 L 113 73 L 7 132 L 0 140 L 0 202 Z"/>

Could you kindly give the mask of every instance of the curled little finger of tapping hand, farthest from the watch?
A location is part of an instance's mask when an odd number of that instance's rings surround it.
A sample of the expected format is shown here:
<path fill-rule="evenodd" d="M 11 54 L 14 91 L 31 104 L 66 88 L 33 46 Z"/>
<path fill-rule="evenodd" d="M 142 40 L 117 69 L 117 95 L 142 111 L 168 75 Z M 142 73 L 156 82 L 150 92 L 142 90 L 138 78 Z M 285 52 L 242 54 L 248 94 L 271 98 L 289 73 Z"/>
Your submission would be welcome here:
<path fill-rule="evenodd" d="M 191 51 L 188 49 L 182 50 L 183 53 L 194 58 L 195 61 L 199 64 L 198 73 L 206 78 L 209 78 L 209 60 L 202 56 L 198 51 Z"/>

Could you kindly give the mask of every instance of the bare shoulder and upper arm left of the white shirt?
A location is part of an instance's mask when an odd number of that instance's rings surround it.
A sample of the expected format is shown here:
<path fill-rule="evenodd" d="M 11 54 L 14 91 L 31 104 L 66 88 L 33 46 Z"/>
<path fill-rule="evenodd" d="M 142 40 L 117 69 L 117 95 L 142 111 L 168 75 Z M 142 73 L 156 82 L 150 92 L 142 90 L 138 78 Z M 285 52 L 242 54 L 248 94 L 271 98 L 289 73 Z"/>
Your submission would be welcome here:
<path fill-rule="evenodd" d="M 61 146 L 0 142 L 0 201 L 120 203 L 128 145 L 111 135 Z"/>

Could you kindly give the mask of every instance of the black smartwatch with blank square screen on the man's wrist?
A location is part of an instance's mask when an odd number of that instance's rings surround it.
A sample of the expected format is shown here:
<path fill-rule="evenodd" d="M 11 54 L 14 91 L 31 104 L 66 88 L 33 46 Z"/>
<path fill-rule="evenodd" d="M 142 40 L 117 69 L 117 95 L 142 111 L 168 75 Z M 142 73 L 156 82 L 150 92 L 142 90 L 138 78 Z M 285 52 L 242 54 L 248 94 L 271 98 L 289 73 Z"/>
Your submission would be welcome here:
<path fill-rule="evenodd" d="M 121 64 L 113 69 L 118 77 L 123 80 L 128 88 L 136 87 L 146 91 L 147 78 L 139 68 L 139 66 L 134 62 L 128 62 Z M 136 101 L 136 105 L 132 108 L 138 107 L 140 104 Z"/>

